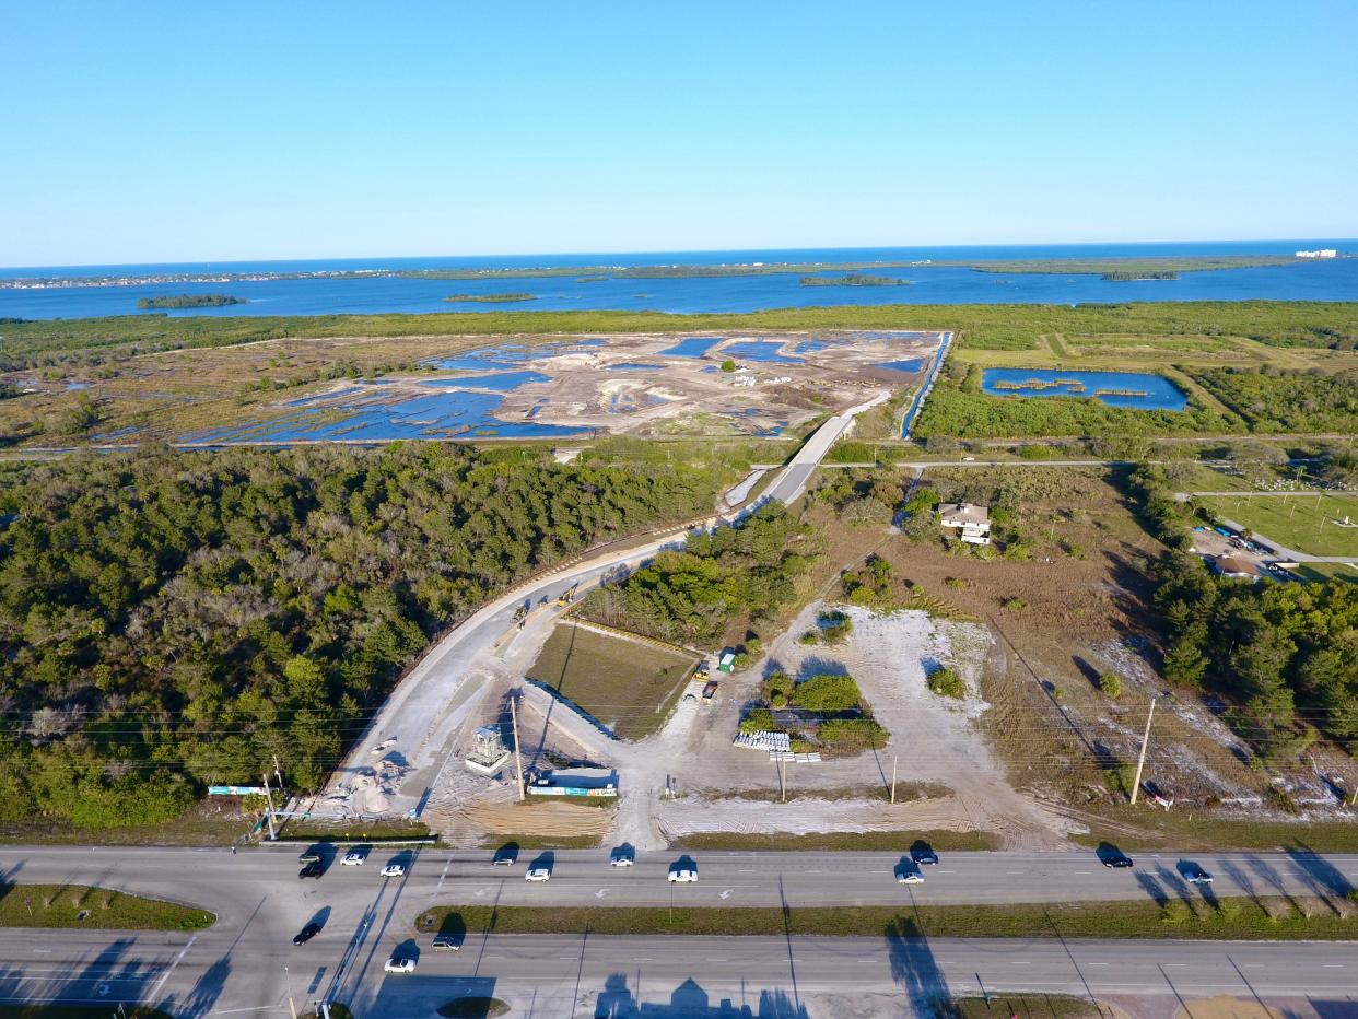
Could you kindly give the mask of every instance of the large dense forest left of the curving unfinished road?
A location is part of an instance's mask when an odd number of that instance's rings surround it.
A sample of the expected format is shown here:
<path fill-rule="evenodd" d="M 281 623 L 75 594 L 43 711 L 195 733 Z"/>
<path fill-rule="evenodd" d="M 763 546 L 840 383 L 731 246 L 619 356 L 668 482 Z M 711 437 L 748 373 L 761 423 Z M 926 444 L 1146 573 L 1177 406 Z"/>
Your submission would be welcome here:
<path fill-rule="evenodd" d="M 716 484 L 439 443 L 5 467 L 0 821 L 160 822 L 274 754 L 315 788 L 430 636 Z"/>

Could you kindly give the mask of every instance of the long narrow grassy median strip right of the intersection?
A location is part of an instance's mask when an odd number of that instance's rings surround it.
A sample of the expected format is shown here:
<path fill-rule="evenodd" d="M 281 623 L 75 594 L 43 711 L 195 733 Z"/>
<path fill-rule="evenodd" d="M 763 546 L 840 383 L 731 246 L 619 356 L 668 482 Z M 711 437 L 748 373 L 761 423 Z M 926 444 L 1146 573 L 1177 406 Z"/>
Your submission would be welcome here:
<path fill-rule="evenodd" d="M 445 906 L 421 931 L 593 935 L 819 935 L 839 937 L 1177 937 L 1190 940 L 1358 940 L 1358 906 L 1342 898 L 1172 898 L 1165 904 L 763 909 Z M 676 899 L 683 891 L 675 893 Z"/>

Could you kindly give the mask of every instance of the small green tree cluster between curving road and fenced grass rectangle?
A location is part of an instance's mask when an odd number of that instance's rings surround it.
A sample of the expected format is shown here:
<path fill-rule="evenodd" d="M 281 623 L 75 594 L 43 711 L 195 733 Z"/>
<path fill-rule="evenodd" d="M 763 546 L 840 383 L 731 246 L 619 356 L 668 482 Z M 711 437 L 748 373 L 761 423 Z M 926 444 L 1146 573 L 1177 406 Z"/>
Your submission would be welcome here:
<path fill-rule="evenodd" d="M 796 598 L 793 580 L 807 571 L 809 546 L 808 529 L 781 503 L 769 503 L 593 591 L 583 614 L 675 643 L 720 641 L 736 618 L 763 630 Z"/>

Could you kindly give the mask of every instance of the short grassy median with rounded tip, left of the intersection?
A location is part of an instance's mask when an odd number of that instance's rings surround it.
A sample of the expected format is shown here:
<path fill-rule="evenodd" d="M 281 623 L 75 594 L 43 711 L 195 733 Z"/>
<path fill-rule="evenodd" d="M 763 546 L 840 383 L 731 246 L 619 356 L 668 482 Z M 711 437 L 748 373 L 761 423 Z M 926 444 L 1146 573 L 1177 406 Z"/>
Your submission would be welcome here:
<path fill-rule="evenodd" d="M 205 909 L 86 884 L 0 884 L 0 927 L 80 927 L 110 931 L 200 931 Z M 3 1016 L 0 1016 L 3 1019 Z"/>

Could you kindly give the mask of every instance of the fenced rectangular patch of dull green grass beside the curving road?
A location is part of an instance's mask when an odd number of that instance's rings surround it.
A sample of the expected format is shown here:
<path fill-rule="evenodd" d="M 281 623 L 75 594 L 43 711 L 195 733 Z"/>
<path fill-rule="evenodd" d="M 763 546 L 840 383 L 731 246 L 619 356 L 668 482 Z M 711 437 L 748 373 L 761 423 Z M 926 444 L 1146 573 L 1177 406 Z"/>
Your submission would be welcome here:
<path fill-rule="evenodd" d="M 697 663 L 697 656 L 659 644 L 562 624 L 528 678 L 580 705 L 619 739 L 640 739 L 660 728 Z"/>

